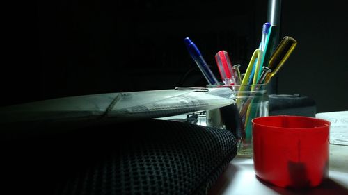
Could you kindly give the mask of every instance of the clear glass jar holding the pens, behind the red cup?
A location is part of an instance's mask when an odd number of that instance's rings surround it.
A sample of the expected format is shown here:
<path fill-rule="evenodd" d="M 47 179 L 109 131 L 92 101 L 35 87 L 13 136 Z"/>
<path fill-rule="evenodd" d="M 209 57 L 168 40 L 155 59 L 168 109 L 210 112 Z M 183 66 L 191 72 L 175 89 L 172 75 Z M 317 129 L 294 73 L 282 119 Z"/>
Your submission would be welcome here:
<path fill-rule="evenodd" d="M 253 157 L 253 128 L 251 120 L 269 115 L 267 84 L 207 85 L 207 88 L 212 87 L 229 87 L 232 90 L 231 98 L 236 101 L 234 105 L 235 112 L 226 112 L 226 108 L 207 110 L 207 126 L 226 128 L 232 131 L 238 140 L 237 155 L 246 158 Z M 232 124 L 232 126 L 227 124 Z"/>

